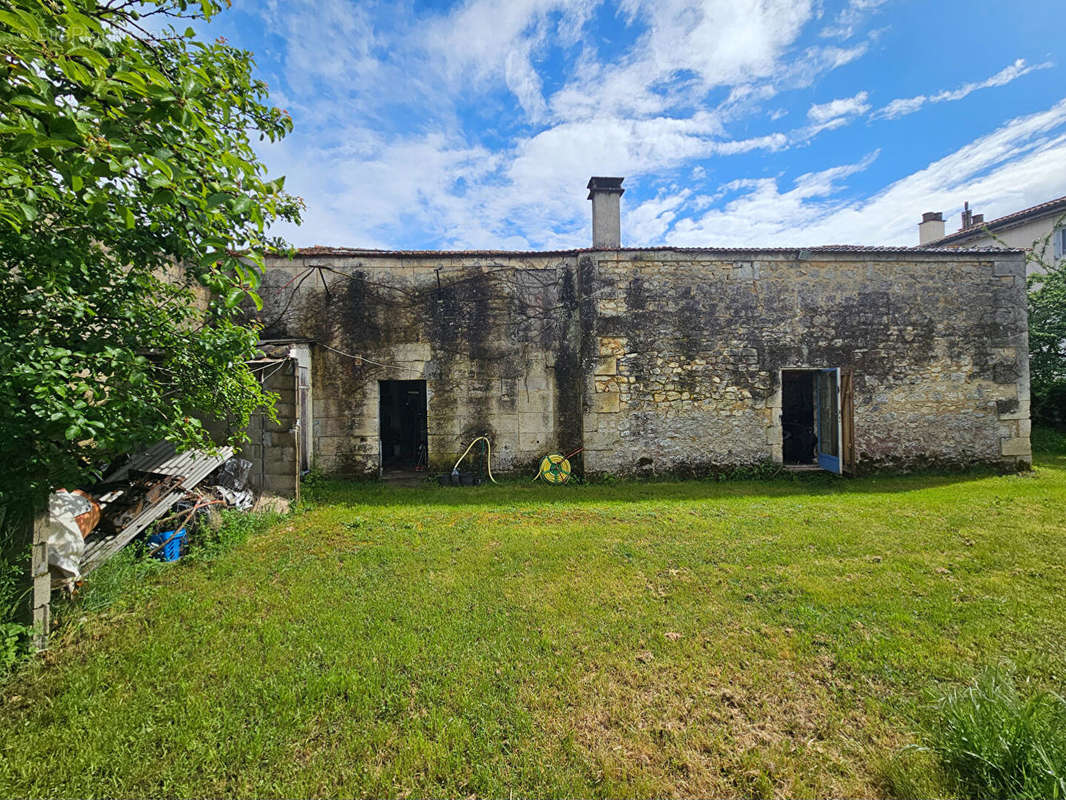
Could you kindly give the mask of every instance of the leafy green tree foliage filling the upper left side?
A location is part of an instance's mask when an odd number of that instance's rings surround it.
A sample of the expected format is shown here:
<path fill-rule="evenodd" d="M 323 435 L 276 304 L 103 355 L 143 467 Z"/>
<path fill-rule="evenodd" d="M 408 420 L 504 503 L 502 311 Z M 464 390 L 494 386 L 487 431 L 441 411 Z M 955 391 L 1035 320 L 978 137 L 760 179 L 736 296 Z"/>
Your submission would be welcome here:
<path fill-rule="evenodd" d="M 302 203 L 253 145 L 292 122 L 251 53 L 175 27 L 220 10 L 0 0 L 0 494 L 269 405 L 240 305 Z"/>

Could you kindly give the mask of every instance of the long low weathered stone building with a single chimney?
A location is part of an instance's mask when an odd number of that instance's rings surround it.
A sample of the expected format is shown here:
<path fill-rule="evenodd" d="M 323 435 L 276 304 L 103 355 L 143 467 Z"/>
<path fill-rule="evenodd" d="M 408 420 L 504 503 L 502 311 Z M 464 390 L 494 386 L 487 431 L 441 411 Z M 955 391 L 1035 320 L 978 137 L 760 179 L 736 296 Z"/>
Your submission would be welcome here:
<path fill-rule="evenodd" d="M 447 471 L 481 434 L 531 476 L 1029 464 L 1021 252 L 623 247 L 621 179 L 588 188 L 593 249 L 268 258 L 278 469 Z"/>

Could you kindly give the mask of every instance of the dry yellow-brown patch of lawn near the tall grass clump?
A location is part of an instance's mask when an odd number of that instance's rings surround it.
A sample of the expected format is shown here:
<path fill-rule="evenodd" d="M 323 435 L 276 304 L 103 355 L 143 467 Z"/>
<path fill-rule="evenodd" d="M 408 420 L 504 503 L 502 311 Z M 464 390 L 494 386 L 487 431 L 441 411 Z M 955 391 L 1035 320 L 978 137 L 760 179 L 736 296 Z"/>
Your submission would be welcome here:
<path fill-rule="evenodd" d="M 722 653 L 708 650 L 633 656 L 588 668 L 542 711 L 608 795 L 877 793 L 863 765 L 891 752 L 897 736 L 823 661 L 718 663 Z"/>

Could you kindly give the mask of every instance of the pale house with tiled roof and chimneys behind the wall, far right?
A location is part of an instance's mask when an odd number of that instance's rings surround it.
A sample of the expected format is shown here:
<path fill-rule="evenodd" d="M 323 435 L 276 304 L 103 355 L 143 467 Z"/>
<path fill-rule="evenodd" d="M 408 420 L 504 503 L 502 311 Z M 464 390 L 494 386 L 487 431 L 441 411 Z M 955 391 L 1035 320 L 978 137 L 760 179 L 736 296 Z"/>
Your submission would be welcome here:
<path fill-rule="evenodd" d="M 1016 247 L 1030 252 L 1030 272 L 1040 271 L 1040 261 L 1053 263 L 1066 257 L 1066 197 L 989 222 L 984 214 L 973 213 L 967 203 L 962 226 L 947 236 L 943 214 L 927 211 L 918 225 L 918 242 L 923 247 Z"/>

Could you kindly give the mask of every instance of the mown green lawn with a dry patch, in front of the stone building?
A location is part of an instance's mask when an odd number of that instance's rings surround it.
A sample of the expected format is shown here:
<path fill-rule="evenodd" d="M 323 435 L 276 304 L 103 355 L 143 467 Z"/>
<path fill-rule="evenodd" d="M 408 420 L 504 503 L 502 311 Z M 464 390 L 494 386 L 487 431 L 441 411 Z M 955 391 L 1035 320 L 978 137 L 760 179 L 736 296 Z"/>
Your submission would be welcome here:
<path fill-rule="evenodd" d="M 0 796 L 870 796 L 931 690 L 1062 686 L 1061 453 L 317 495 L 68 609 L 0 687 Z"/>

